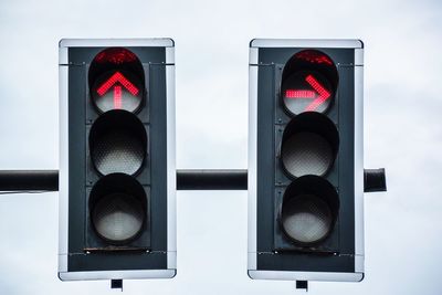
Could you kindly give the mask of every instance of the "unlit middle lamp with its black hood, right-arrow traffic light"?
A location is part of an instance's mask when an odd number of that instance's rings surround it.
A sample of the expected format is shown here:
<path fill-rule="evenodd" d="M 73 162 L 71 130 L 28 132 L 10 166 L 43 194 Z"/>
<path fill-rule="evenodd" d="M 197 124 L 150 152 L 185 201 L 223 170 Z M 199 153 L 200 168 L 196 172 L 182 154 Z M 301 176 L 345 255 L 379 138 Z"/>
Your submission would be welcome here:
<path fill-rule="evenodd" d="M 339 136 L 325 115 L 306 112 L 286 126 L 281 145 L 281 161 L 292 178 L 324 176 L 335 162 Z"/>

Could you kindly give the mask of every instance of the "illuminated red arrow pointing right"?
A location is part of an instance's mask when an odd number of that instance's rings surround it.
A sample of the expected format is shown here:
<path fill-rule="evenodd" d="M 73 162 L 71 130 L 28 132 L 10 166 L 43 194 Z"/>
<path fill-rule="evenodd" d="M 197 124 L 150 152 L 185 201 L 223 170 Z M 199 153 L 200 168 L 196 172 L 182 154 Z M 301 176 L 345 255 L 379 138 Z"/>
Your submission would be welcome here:
<path fill-rule="evenodd" d="M 296 98 L 296 99 L 312 99 L 315 98 L 305 110 L 315 110 L 319 105 L 324 104 L 330 97 L 330 93 L 313 76 L 306 76 L 305 81 L 314 88 L 314 91 L 309 89 L 286 89 L 285 97 L 286 98 Z"/>

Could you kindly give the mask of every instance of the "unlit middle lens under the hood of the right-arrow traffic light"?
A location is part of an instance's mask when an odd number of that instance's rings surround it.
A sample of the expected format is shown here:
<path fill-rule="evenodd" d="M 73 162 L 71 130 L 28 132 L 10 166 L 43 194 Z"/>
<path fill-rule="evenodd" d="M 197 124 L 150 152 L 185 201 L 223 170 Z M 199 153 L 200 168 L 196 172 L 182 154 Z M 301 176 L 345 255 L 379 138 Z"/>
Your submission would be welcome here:
<path fill-rule="evenodd" d="M 297 133 L 283 146 L 282 161 L 294 177 L 323 176 L 334 162 L 330 144 L 314 133 Z"/>

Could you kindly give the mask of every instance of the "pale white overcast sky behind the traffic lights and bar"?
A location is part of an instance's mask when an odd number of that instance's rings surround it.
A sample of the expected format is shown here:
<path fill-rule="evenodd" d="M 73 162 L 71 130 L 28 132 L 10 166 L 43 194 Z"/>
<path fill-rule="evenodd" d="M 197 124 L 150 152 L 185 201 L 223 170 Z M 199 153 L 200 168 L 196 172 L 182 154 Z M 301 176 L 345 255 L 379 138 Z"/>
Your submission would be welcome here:
<path fill-rule="evenodd" d="M 0 2 L 0 169 L 59 168 L 57 42 L 176 41 L 178 168 L 245 168 L 249 41 L 361 39 L 365 166 L 388 192 L 365 197 L 366 278 L 309 294 L 442 292 L 440 1 Z M 0 294 L 109 294 L 60 282 L 57 193 L 0 196 Z M 178 192 L 178 275 L 125 281 L 125 294 L 294 294 L 246 276 L 246 192 Z"/>

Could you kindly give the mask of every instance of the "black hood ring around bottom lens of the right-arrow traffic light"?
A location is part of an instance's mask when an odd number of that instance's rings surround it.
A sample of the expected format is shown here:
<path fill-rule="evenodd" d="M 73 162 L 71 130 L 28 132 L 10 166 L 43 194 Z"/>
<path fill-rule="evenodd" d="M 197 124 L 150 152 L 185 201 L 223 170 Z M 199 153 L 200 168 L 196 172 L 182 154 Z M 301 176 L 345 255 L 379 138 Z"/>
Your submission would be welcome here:
<path fill-rule="evenodd" d="M 303 242 L 296 240 L 291 234 L 287 233 L 283 223 L 283 210 L 284 203 L 292 199 L 298 198 L 298 196 L 308 196 L 313 194 L 316 198 L 323 200 L 327 206 L 332 213 L 330 226 L 326 234 L 323 238 L 315 240 L 313 242 Z M 294 245 L 299 247 L 316 247 L 325 240 L 327 240 L 332 232 L 335 230 L 335 225 L 337 222 L 338 213 L 339 213 L 339 197 L 336 188 L 326 179 L 318 176 L 303 176 L 294 180 L 284 191 L 277 214 L 277 222 L 280 225 L 283 235 Z"/>

